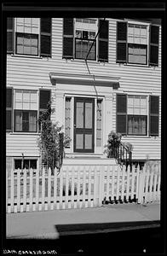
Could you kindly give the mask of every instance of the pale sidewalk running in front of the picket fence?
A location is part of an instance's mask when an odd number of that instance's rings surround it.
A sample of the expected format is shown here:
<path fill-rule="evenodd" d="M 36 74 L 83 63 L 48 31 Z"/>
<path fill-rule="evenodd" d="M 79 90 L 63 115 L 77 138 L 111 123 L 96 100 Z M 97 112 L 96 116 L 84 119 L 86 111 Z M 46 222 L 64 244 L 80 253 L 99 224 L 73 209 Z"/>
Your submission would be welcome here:
<path fill-rule="evenodd" d="M 118 204 L 97 208 L 7 213 L 7 238 L 58 239 L 60 236 L 109 232 L 160 220 L 160 204 Z M 122 224 L 121 224 L 122 223 Z M 118 224 L 118 225 L 117 225 Z"/>

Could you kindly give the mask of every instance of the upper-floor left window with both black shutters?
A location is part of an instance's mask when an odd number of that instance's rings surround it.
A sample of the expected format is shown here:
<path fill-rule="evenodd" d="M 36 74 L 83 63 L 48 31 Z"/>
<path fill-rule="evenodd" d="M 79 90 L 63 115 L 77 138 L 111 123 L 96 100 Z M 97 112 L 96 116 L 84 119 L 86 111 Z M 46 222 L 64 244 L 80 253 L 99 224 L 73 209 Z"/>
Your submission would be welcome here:
<path fill-rule="evenodd" d="M 51 19 L 7 18 L 7 53 L 51 56 Z"/>

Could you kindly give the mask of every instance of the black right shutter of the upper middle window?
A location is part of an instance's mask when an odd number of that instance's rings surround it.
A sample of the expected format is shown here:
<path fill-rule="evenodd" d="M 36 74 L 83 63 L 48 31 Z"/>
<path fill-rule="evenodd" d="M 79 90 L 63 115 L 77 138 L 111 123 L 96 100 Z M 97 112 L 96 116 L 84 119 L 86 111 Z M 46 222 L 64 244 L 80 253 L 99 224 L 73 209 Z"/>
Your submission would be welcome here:
<path fill-rule="evenodd" d="M 98 61 L 108 61 L 108 20 L 99 20 Z"/>

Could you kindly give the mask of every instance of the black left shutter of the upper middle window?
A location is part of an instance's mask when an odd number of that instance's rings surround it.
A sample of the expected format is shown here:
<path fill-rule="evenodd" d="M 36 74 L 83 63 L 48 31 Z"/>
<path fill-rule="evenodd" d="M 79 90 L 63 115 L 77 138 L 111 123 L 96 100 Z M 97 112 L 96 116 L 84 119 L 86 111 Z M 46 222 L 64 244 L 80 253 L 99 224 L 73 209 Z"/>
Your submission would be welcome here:
<path fill-rule="evenodd" d="M 64 18 L 63 20 L 63 53 L 66 59 L 73 58 L 73 19 Z"/>

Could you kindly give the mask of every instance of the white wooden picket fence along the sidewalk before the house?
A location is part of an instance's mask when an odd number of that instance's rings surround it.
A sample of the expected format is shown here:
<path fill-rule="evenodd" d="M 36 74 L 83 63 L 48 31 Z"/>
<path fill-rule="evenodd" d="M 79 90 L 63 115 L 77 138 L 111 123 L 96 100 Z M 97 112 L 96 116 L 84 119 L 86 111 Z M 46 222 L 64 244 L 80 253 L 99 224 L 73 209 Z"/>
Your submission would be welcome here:
<path fill-rule="evenodd" d="M 15 174 L 14 174 L 15 173 Z M 62 166 L 11 172 L 6 179 L 6 212 L 101 207 L 104 202 L 160 200 L 160 166 Z"/>

